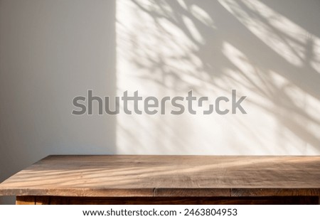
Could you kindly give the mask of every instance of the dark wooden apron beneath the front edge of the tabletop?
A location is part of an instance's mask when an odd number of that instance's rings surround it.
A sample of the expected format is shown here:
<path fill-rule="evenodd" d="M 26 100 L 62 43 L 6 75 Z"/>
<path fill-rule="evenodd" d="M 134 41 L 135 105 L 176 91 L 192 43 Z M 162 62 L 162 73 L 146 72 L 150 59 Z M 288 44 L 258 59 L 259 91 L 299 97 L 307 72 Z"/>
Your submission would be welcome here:
<path fill-rule="evenodd" d="M 298 205 L 319 204 L 317 196 L 267 197 L 56 197 L 30 196 L 17 204 L 36 205 Z M 20 200 L 23 196 L 20 197 Z"/>

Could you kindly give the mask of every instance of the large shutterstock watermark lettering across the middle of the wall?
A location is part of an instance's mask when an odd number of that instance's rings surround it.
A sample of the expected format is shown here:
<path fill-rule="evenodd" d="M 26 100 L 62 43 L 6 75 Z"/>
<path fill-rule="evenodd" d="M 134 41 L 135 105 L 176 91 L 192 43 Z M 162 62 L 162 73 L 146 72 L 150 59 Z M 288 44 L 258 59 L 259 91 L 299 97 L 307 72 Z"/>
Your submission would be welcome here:
<path fill-rule="evenodd" d="M 93 105 L 97 105 L 97 114 L 247 114 L 242 107 L 242 102 L 247 96 L 237 96 L 237 90 L 231 90 L 231 98 L 220 96 L 216 97 L 214 101 L 210 102 L 209 97 L 196 97 L 193 95 L 193 91 L 190 90 L 186 97 L 162 97 L 157 98 L 154 96 L 141 97 L 138 90 L 133 95 L 128 95 L 128 91 L 124 91 L 122 97 L 114 97 L 111 102 L 110 97 L 98 97 L 94 96 L 92 90 L 87 90 L 87 97 L 78 96 L 73 98 L 73 110 L 72 114 L 94 114 Z M 122 107 L 120 107 L 120 100 Z M 111 106 L 113 105 L 113 109 Z M 143 105 L 141 107 L 141 105 Z M 173 110 L 168 110 L 168 106 L 174 107 Z M 206 107 L 204 106 L 206 105 Z M 226 106 L 227 105 L 227 106 Z M 201 112 L 196 110 L 203 108 Z"/>

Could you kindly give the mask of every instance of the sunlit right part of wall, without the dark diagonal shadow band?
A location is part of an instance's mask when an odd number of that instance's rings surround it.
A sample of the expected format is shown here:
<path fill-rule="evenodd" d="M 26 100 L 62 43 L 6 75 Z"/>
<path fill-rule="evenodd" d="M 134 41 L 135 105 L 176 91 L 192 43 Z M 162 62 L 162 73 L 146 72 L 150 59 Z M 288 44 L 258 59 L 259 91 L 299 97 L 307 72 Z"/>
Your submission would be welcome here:
<path fill-rule="evenodd" d="M 272 58 L 280 55 L 298 72 L 295 68 L 305 64 L 309 51 L 306 31 L 257 1 L 245 6 L 261 14 L 264 22 L 242 10 L 245 3 L 201 1 L 206 6 L 197 2 L 117 1 L 118 95 L 138 90 L 144 98 L 161 100 L 186 97 L 193 90 L 196 97 L 231 100 L 235 89 L 239 97 L 247 96 L 243 105 L 247 114 L 190 114 L 186 106 L 181 115 L 129 115 L 122 110 L 117 116 L 117 153 L 319 154 L 319 100 L 281 68 L 274 70 L 267 62 L 255 60 L 257 50 Z M 235 17 L 253 34 L 239 28 Z M 233 27 L 242 34 L 238 38 L 233 38 Z M 251 45 L 251 35 L 267 44 L 267 49 L 244 48 Z M 312 58 L 317 69 L 318 58 Z M 208 109 L 208 104 L 203 107 Z M 175 107 L 165 109 L 170 112 Z M 201 112 L 201 107 L 195 110 Z"/>

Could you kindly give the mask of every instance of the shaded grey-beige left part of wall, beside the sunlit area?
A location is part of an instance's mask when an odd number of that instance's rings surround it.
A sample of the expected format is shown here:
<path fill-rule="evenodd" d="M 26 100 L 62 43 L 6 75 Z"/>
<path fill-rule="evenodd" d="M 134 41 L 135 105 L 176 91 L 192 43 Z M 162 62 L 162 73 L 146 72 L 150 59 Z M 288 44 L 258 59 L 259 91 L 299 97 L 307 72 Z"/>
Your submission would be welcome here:
<path fill-rule="evenodd" d="M 115 95 L 115 2 L 0 1 L 0 181 L 48 154 L 114 154 L 115 117 L 71 114 Z"/>

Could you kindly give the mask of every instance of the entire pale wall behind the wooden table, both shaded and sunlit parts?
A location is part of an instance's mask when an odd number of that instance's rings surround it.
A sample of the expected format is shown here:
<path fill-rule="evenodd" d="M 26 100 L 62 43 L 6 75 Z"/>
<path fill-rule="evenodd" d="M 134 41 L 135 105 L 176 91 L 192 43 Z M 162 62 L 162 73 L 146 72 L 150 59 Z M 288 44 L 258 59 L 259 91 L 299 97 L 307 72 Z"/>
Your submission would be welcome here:
<path fill-rule="evenodd" d="M 320 1 L 159 2 L 0 0 L 0 181 L 48 154 L 320 154 Z M 73 116 L 88 89 L 236 89 L 247 114 Z"/>

